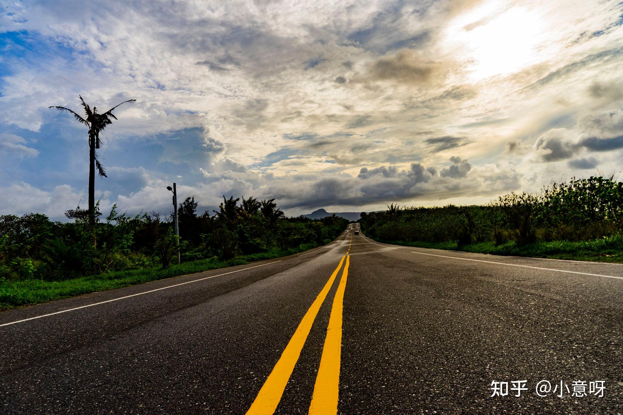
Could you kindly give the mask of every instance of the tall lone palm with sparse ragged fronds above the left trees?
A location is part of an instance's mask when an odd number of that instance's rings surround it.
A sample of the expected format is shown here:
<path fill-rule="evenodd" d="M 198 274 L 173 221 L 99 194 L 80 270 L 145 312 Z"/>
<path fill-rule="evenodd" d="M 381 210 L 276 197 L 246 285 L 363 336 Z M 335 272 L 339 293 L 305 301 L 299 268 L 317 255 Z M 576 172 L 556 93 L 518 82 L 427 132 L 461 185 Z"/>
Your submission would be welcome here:
<path fill-rule="evenodd" d="M 111 118 L 117 119 L 113 114 L 115 108 L 126 102 L 133 102 L 136 100 L 123 101 L 121 104 L 113 106 L 113 108 L 110 108 L 110 110 L 105 113 L 98 114 L 95 106 L 91 109 L 82 99 L 82 96 L 78 95 L 78 97 L 80 97 L 80 101 L 82 101 L 86 118 L 82 118 L 75 111 L 65 108 L 64 106 L 50 106 L 49 108 L 56 108 L 59 111 L 68 111 L 74 114 L 74 118 L 78 123 L 85 124 L 85 126 L 88 127 L 88 217 L 91 226 L 95 226 L 95 167 L 97 167 L 97 172 L 100 176 L 107 177 L 106 171 L 102 163 L 98 160 L 97 152 L 95 151 L 100 148 L 100 131 L 104 131 L 107 125 L 113 123 Z"/>

